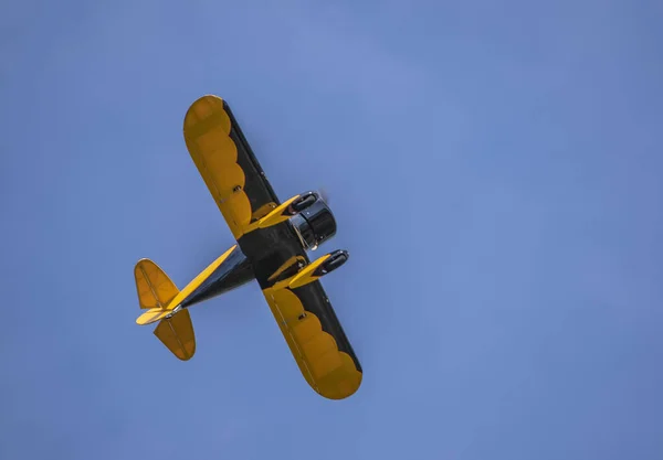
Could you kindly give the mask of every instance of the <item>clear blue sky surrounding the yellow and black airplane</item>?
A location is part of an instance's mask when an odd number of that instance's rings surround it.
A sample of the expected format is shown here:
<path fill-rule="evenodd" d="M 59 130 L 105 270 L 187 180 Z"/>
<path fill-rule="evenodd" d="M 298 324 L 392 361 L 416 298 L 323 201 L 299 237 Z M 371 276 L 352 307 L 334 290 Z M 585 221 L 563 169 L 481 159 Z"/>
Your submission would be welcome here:
<path fill-rule="evenodd" d="M 2 459 L 660 459 L 654 1 L 4 2 Z M 256 285 L 182 363 L 134 264 L 232 235 L 185 113 L 232 105 L 276 193 L 324 188 L 365 370 L 302 378 Z"/>

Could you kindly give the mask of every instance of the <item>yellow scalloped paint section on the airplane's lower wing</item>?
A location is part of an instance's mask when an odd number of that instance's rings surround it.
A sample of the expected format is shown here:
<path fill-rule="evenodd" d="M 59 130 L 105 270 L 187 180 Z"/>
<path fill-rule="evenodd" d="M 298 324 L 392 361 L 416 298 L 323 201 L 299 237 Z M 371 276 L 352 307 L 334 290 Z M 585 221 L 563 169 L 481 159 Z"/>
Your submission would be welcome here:
<path fill-rule="evenodd" d="M 362 374 L 352 359 L 338 350 L 334 338 L 323 331 L 319 319 L 304 310 L 290 289 L 267 288 L 263 295 L 278 328 L 311 387 L 329 399 L 351 396 L 361 385 Z"/>

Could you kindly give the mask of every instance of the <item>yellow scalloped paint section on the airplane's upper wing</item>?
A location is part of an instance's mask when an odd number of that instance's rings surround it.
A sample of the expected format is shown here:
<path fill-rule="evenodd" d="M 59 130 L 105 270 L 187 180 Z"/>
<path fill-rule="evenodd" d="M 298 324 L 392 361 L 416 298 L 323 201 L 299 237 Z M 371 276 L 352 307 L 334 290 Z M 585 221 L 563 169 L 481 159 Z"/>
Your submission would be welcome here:
<path fill-rule="evenodd" d="M 183 135 L 198 168 L 235 239 L 251 223 L 252 210 L 244 192 L 245 174 L 238 164 L 238 148 L 229 137 L 230 117 L 223 99 L 207 95 L 196 100 L 185 116 Z"/>

